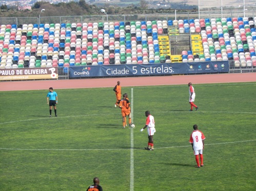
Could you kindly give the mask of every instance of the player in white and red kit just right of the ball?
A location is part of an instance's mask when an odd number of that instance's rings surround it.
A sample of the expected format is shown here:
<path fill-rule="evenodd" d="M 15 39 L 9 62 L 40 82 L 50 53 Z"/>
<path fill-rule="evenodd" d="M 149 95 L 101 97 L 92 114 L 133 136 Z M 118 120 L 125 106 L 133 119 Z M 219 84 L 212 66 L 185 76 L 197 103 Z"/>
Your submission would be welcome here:
<path fill-rule="evenodd" d="M 150 115 L 149 111 L 146 111 L 145 115 L 147 117 L 146 125 L 141 129 L 141 132 L 145 128 L 147 128 L 147 130 L 148 130 L 148 147 L 145 147 L 145 149 L 149 150 L 149 151 L 153 151 L 154 150 L 153 135 L 155 133 L 154 117 L 153 117 L 153 115 Z"/>

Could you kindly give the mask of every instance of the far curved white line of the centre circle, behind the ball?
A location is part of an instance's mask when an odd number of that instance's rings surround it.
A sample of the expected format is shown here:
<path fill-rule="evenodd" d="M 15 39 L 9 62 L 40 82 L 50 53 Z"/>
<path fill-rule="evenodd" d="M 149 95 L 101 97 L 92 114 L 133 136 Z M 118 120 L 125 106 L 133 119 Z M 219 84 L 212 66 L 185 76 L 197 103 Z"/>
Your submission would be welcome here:
<path fill-rule="evenodd" d="M 160 111 L 160 112 L 154 112 L 154 113 L 191 113 L 190 111 Z M 196 111 L 193 113 L 238 113 L 238 114 L 256 114 L 256 112 L 240 112 L 240 111 Z M 132 119 L 133 119 L 133 113 L 132 112 Z M 135 113 L 137 114 L 137 113 Z M 102 113 L 101 115 L 117 115 L 117 113 Z M 88 115 L 73 115 L 73 116 L 58 116 L 53 117 L 54 119 L 57 118 L 69 118 L 69 117 L 87 117 L 87 116 L 99 116 L 99 114 L 88 114 Z M 51 118 L 52 119 L 52 118 Z M 10 123 L 17 123 L 17 122 L 28 122 L 28 121 L 35 121 L 35 120 L 50 120 L 50 117 L 44 117 L 44 118 L 32 118 L 29 120 L 18 120 L 18 121 L 11 121 L 11 122 L 3 122 L 0 123 L 0 125 L 3 124 L 10 124 Z"/>

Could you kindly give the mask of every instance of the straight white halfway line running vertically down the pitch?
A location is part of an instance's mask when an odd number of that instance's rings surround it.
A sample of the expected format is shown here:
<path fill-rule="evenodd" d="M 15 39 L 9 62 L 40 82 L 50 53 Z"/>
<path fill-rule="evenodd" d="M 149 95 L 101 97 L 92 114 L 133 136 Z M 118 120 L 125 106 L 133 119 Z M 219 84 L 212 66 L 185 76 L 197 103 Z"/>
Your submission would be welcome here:
<path fill-rule="evenodd" d="M 133 88 L 131 88 L 131 118 L 133 123 Z M 131 128 L 130 191 L 134 189 L 133 128 Z"/>

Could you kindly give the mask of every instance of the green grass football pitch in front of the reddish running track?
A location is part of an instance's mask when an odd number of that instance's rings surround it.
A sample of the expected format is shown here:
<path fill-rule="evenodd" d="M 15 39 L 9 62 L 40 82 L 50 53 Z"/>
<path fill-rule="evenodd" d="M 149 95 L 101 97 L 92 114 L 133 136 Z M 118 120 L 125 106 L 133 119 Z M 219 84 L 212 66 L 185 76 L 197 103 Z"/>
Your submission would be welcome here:
<path fill-rule="evenodd" d="M 104 190 L 255 190 L 256 83 L 193 86 L 193 112 L 187 85 L 123 87 L 134 129 L 122 128 L 112 88 L 56 89 L 51 118 L 47 89 L 0 92 L 0 190 L 86 190 L 95 176 Z M 154 151 L 143 150 L 146 110 Z M 206 136 L 200 169 L 194 124 Z"/>

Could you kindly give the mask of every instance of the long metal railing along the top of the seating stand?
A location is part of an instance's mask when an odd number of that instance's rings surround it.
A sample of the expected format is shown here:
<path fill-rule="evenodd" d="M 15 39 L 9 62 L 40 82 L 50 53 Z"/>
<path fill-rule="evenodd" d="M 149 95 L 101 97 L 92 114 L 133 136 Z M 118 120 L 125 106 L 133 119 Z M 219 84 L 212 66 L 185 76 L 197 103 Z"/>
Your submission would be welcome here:
<path fill-rule="evenodd" d="M 243 17 L 243 10 L 203 10 L 195 12 L 173 12 L 163 14 L 131 14 L 131 15 L 84 15 L 84 16 L 49 16 L 49 17 L 1 17 L 0 25 L 24 25 L 41 23 L 84 23 L 84 22 L 120 22 L 120 21 L 152 21 L 152 20 L 184 20 L 200 18 Z M 256 9 L 245 10 L 246 17 L 256 16 Z"/>

